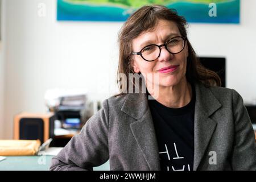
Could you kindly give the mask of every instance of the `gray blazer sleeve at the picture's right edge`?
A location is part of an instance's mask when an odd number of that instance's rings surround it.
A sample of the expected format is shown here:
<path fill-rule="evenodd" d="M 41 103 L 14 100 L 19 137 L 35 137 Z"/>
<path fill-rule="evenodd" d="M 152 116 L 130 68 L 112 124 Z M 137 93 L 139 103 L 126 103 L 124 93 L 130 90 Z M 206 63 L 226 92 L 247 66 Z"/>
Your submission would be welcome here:
<path fill-rule="evenodd" d="M 235 137 L 231 163 L 233 170 L 256 170 L 254 130 L 243 99 L 233 90 L 233 117 Z"/>

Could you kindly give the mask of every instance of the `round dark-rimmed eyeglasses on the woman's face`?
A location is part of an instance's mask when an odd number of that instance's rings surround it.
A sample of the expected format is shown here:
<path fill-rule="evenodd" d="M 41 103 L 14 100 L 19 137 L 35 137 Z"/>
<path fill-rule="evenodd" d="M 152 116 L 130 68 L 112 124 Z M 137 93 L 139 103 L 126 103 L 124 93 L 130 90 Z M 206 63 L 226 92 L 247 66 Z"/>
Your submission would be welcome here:
<path fill-rule="evenodd" d="M 171 38 L 166 43 L 161 44 L 160 46 L 156 44 L 150 44 L 146 47 L 143 47 L 139 52 L 131 52 L 133 55 L 140 55 L 145 61 L 154 61 L 158 59 L 161 54 L 161 47 L 165 47 L 168 52 L 172 54 L 180 53 L 185 47 L 185 41 L 187 38 L 182 36 L 175 36 Z"/>

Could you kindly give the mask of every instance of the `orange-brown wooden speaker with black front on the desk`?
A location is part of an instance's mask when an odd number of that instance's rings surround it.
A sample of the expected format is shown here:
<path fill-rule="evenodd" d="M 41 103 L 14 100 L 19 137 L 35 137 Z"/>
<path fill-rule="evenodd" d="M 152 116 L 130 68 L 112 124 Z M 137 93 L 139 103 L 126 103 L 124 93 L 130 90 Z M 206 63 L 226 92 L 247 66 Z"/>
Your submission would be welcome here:
<path fill-rule="evenodd" d="M 14 139 L 39 139 L 41 143 L 54 137 L 54 113 L 20 113 L 14 117 Z"/>

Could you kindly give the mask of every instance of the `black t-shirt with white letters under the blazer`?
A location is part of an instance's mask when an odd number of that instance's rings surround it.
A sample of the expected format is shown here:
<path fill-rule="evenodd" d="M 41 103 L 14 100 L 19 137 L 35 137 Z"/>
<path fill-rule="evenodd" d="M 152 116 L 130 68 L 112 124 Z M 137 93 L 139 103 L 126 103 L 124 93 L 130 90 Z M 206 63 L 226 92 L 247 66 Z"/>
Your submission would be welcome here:
<path fill-rule="evenodd" d="M 155 126 L 162 171 L 193 171 L 195 87 L 192 100 L 180 108 L 170 108 L 148 100 Z"/>

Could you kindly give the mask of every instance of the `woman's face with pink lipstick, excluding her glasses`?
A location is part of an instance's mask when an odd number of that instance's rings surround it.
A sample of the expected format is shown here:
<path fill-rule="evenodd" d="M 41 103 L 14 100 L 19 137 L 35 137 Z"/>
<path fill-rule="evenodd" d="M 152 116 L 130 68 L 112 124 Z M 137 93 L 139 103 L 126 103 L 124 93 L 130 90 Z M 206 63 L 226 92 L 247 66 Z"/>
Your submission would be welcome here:
<path fill-rule="evenodd" d="M 149 44 L 164 44 L 167 40 L 174 38 L 175 36 L 181 36 L 176 23 L 168 20 L 159 20 L 153 31 L 142 32 L 141 35 L 132 40 L 132 50 L 134 52 L 139 52 L 143 47 Z M 185 43 L 183 51 L 177 54 L 168 52 L 163 46 L 161 47 L 161 53 L 158 59 L 149 62 L 142 59 L 139 55 L 133 55 L 132 65 L 135 73 L 142 73 L 147 84 L 150 83 L 154 85 L 155 81 L 152 78 L 154 78 L 155 74 L 158 74 L 159 87 L 174 86 L 179 84 L 181 81 L 185 81 L 187 57 L 187 43 Z M 170 66 L 175 67 L 172 69 L 166 69 L 165 71 L 160 71 L 160 69 Z M 152 75 L 147 77 L 148 73 L 151 73 Z"/>

